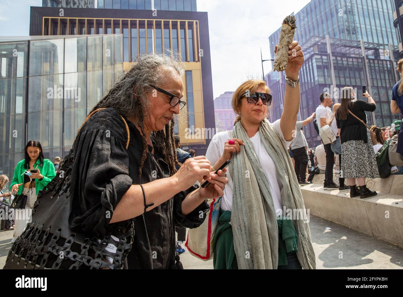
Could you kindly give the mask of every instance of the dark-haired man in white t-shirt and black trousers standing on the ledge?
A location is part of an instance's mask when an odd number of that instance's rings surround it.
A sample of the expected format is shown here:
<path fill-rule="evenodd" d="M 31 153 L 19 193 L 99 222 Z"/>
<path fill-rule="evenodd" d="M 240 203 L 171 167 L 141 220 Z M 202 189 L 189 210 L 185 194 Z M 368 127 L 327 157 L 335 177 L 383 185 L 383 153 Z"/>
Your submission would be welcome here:
<path fill-rule="evenodd" d="M 329 93 L 320 94 L 320 105 L 316 108 L 316 122 L 318 123 L 318 128 L 326 125 L 330 116 L 332 115 L 332 110 L 330 107 L 333 105 L 332 98 Z M 331 144 L 324 144 L 326 152 L 326 171 L 325 180 L 323 183 L 324 190 L 339 189 L 339 186 L 333 182 L 333 165 L 334 165 L 334 152 L 331 149 Z"/>

